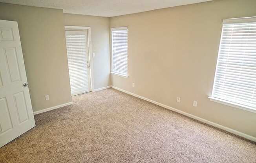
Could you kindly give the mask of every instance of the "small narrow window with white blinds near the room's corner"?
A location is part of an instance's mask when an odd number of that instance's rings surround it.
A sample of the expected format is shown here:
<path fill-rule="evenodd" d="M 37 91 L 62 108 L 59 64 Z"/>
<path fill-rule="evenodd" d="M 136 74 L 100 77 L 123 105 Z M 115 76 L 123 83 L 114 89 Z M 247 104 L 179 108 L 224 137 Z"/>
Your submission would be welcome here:
<path fill-rule="evenodd" d="M 111 28 L 112 74 L 128 78 L 128 28 Z"/>

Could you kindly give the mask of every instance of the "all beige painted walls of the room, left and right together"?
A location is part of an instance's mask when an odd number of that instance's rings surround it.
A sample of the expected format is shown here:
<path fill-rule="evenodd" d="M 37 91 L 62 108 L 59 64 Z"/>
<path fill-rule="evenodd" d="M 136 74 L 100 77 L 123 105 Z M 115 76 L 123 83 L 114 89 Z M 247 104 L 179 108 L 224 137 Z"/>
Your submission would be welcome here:
<path fill-rule="evenodd" d="M 215 0 L 103 18 L 0 3 L 0 19 L 18 22 L 34 111 L 71 101 L 64 25 L 90 26 L 95 89 L 113 84 L 256 137 L 255 113 L 208 100 L 221 21 L 256 16 L 255 6 L 255 0 Z M 109 27 L 121 26 L 129 30 L 129 78 L 111 81 Z"/>

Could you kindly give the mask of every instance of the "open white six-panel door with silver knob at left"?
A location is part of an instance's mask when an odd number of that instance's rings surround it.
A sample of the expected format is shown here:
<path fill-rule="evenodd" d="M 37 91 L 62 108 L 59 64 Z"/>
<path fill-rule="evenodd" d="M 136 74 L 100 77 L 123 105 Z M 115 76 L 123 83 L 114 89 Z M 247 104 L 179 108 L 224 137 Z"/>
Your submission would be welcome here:
<path fill-rule="evenodd" d="M 18 23 L 0 20 L 0 147 L 35 127 L 26 83 Z"/>

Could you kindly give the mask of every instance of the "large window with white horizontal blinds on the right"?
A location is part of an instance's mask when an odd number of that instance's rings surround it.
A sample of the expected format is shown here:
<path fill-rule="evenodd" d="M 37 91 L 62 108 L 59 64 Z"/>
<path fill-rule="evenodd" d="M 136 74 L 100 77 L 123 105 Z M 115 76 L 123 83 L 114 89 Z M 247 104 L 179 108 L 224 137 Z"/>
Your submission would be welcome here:
<path fill-rule="evenodd" d="M 256 17 L 223 20 L 210 100 L 256 111 Z"/>

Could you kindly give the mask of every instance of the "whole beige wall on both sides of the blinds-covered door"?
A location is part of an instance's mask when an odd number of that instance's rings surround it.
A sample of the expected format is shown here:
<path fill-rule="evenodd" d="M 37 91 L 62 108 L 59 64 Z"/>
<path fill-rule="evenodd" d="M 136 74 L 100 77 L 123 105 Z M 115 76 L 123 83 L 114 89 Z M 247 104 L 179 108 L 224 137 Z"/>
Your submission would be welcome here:
<path fill-rule="evenodd" d="M 109 18 L 0 3 L 0 19 L 18 22 L 33 111 L 71 101 L 64 25 L 91 27 L 94 88 L 111 85 Z"/>

